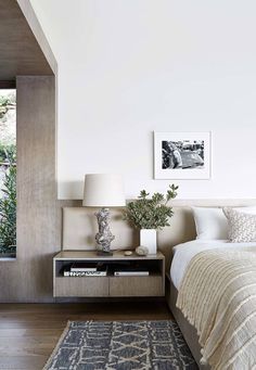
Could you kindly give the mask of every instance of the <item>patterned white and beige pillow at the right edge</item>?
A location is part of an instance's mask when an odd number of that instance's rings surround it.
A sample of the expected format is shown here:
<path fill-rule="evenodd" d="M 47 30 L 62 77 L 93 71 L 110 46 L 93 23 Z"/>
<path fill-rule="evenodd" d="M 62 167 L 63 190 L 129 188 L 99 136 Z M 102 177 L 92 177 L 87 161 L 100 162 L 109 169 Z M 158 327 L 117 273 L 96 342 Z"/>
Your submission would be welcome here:
<path fill-rule="evenodd" d="M 233 243 L 256 241 L 256 215 L 242 213 L 235 208 L 223 208 L 228 219 L 229 241 Z"/>

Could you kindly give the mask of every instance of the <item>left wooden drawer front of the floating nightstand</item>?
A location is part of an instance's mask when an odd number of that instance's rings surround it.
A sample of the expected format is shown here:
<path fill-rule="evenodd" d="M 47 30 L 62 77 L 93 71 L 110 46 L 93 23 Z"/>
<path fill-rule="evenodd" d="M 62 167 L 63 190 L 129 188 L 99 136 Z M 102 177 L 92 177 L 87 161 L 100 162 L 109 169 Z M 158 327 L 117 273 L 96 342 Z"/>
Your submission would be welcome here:
<path fill-rule="evenodd" d="M 56 278 L 55 296 L 104 297 L 108 296 L 107 277 Z"/>

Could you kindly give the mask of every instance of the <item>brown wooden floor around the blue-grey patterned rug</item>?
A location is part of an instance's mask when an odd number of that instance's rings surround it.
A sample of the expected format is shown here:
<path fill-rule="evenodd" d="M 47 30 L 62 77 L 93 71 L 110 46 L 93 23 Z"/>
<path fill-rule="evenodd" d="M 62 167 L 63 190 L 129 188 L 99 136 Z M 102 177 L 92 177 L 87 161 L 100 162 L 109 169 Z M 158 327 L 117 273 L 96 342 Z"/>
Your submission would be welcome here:
<path fill-rule="evenodd" d="M 164 302 L 0 304 L 0 370 L 41 370 L 68 320 L 172 320 Z"/>

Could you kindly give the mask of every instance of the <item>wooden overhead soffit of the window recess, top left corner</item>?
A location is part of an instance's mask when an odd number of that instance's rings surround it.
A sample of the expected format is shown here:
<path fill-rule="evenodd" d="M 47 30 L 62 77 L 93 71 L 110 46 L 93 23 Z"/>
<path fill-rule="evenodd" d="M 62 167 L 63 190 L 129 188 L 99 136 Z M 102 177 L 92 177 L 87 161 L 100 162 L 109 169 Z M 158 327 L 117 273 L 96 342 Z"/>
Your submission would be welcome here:
<path fill-rule="evenodd" d="M 56 61 L 29 0 L 0 0 L 0 80 L 56 74 Z"/>

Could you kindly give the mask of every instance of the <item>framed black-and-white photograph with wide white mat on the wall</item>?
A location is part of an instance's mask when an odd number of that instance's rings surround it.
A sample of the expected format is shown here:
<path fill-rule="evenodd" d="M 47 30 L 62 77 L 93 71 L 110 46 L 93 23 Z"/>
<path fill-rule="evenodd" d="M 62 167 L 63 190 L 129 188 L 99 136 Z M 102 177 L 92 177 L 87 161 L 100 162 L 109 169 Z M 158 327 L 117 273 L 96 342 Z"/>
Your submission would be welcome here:
<path fill-rule="evenodd" d="M 209 179 L 210 132 L 154 132 L 155 179 Z"/>

